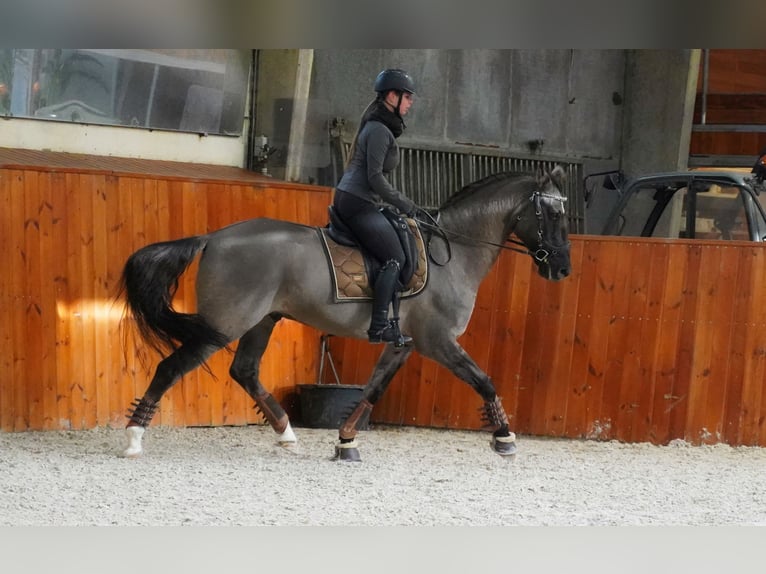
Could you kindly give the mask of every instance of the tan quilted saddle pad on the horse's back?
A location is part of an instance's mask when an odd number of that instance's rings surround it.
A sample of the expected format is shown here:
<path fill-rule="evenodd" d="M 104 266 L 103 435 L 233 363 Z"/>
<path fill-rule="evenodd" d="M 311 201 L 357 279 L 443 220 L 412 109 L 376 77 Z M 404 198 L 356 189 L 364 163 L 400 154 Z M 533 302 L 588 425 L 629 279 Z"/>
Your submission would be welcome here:
<path fill-rule="evenodd" d="M 428 259 L 426 258 L 426 248 L 423 243 L 423 236 L 420 234 L 420 228 L 414 219 L 406 218 L 405 221 L 415 236 L 415 245 L 418 248 L 418 265 L 407 288 L 401 292 L 401 298 L 417 295 L 425 288 L 428 280 Z M 326 228 L 317 229 L 319 229 L 327 262 L 330 265 L 330 275 L 332 275 L 335 286 L 335 301 L 342 303 L 372 299 L 372 287 L 370 287 L 370 278 L 367 275 L 362 252 L 356 247 L 336 243 L 327 235 Z"/>

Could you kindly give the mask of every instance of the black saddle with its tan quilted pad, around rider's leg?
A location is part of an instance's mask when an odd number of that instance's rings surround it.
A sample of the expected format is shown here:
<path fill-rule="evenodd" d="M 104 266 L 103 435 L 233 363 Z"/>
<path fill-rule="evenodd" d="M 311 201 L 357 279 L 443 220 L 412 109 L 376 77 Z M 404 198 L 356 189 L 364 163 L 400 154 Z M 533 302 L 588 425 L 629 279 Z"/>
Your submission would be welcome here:
<path fill-rule="evenodd" d="M 318 229 L 335 286 L 335 301 L 372 299 L 372 285 L 382 262 L 361 248 L 332 205 L 328 211 L 329 223 Z M 425 288 L 428 279 L 428 262 L 420 228 L 414 219 L 402 217 L 393 210 L 384 208 L 382 213 L 396 230 L 407 257 L 399 272 L 399 297 L 412 297 Z"/>

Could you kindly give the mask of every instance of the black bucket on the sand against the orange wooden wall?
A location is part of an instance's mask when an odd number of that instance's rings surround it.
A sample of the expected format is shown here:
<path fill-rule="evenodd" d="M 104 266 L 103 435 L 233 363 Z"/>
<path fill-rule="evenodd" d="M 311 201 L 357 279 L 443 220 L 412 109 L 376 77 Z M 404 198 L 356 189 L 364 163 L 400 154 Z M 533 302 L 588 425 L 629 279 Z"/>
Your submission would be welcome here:
<path fill-rule="evenodd" d="M 301 423 L 309 428 L 338 429 L 362 400 L 361 385 L 298 385 Z M 357 426 L 369 428 L 370 413 L 366 412 Z"/>

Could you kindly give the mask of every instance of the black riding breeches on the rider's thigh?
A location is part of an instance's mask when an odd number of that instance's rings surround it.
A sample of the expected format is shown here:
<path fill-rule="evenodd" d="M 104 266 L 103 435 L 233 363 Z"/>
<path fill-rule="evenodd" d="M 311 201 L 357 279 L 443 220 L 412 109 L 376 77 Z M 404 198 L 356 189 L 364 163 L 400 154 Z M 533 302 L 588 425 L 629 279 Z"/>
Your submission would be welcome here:
<path fill-rule="evenodd" d="M 336 190 L 333 205 L 367 252 L 381 263 L 394 260 L 400 269 L 404 266 L 407 259 L 399 236 L 374 203 Z"/>

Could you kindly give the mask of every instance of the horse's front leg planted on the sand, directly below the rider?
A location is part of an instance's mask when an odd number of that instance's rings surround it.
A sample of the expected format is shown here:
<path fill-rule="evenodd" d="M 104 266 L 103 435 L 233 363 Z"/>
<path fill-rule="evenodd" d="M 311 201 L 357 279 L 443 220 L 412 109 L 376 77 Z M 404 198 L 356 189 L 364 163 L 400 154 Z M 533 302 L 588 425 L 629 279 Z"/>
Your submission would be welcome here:
<path fill-rule="evenodd" d="M 372 412 L 372 407 L 383 396 L 394 375 L 411 353 L 412 347 L 386 345 L 362 391 L 362 399 L 340 427 L 338 444 L 335 446 L 335 460 L 351 462 L 362 460 L 356 442 L 360 423 L 365 414 Z"/>

